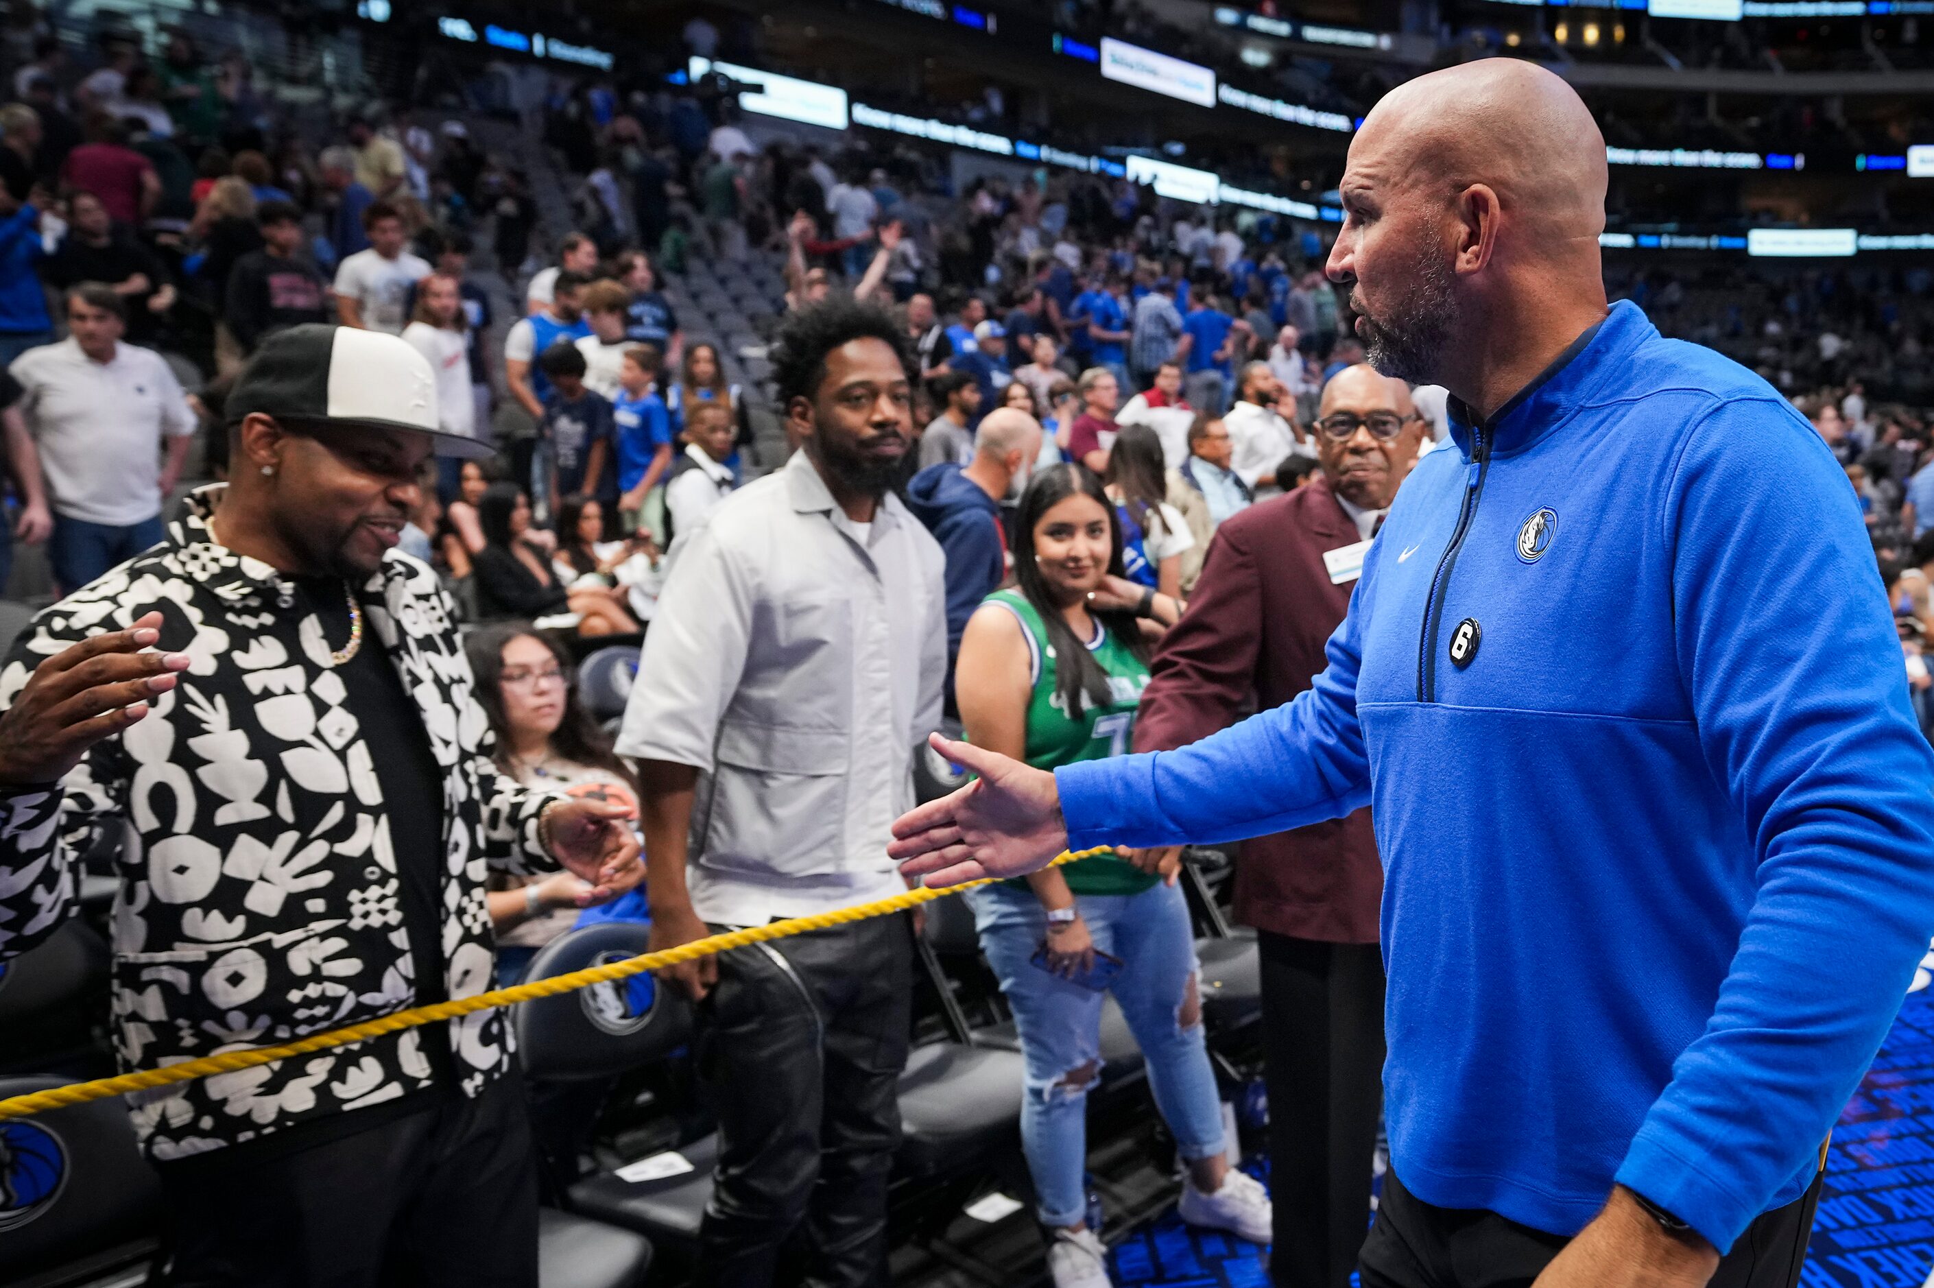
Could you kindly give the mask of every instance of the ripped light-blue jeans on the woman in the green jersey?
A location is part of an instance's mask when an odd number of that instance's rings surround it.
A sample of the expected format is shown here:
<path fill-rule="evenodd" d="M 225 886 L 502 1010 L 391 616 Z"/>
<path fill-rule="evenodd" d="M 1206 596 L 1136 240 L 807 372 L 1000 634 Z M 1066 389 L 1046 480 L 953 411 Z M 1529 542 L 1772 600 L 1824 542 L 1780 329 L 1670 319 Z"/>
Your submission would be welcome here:
<path fill-rule="evenodd" d="M 981 951 L 1000 977 L 1021 1056 L 1021 1149 L 1035 1178 L 1044 1226 L 1073 1226 L 1087 1215 L 1087 1091 L 1100 1071 L 1100 994 L 1029 963 L 1046 938 L 1040 901 L 1025 886 L 982 886 L 973 905 Z M 1176 886 L 1139 895 L 1075 895 L 1095 948 L 1126 965 L 1110 992 L 1147 1062 L 1155 1104 L 1184 1158 L 1222 1153 L 1222 1098 L 1203 1044 L 1195 996 L 1195 936 Z"/>

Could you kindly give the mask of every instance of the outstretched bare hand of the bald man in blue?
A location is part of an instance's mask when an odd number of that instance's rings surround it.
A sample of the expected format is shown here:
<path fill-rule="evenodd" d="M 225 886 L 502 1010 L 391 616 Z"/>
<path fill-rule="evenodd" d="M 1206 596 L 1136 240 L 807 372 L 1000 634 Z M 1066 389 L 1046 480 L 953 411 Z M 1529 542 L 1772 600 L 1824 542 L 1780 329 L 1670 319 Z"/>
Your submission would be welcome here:
<path fill-rule="evenodd" d="M 899 861 L 909 880 L 959 886 L 988 876 L 1025 876 L 1068 849 L 1068 824 L 1062 822 L 1052 774 L 938 733 L 926 741 L 979 777 L 907 810 L 894 824 L 886 853 Z"/>

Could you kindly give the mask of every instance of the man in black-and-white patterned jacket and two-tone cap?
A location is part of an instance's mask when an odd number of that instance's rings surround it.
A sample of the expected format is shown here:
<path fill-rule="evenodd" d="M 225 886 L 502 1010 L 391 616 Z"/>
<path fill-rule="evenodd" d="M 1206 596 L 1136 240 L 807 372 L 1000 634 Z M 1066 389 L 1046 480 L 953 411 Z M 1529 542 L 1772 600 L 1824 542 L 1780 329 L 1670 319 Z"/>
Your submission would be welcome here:
<path fill-rule="evenodd" d="M 234 482 L 43 611 L 0 667 L 0 959 L 73 911 L 118 826 L 126 1069 L 491 986 L 487 868 L 642 878 L 629 810 L 497 774 L 451 600 L 395 551 L 437 435 L 379 333 L 273 337 L 230 408 Z M 178 1284 L 536 1284 L 501 1011 L 132 1097 Z M 420 1261 L 418 1257 L 424 1257 Z"/>

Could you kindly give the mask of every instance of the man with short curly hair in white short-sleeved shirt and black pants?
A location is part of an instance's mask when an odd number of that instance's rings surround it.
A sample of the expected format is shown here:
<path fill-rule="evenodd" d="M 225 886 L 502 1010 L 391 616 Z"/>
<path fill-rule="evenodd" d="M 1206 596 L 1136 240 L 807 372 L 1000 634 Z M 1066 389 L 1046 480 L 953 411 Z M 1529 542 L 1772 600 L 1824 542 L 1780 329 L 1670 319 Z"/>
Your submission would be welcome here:
<path fill-rule="evenodd" d="M 785 468 L 681 530 L 617 750 L 638 762 L 652 948 L 905 890 L 886 855 L 940 725 L 946 557 L 892 483 L 913 356 L 878 307 L 795 311 Z M 702 998 L 719 1116 L 698 1282 L 886 1278 L 913 938 L 876 917 L 663 973 Z"/>

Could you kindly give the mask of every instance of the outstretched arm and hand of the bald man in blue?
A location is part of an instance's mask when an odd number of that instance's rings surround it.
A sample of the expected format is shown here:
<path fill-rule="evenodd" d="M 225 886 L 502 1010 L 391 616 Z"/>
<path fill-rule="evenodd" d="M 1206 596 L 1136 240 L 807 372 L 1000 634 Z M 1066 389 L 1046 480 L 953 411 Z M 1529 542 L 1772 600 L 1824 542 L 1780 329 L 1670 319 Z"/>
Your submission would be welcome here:
<path fill-rule="evenodd" d="M 1331 636 L 1329 667 L 1288 706 L 1193 746 L 1083 760 L 1054 774 L 934 735 L 934 750 L 977 777 L 901 816 L 888 853 L 907 876 L 955 886 L 1035 872 L 1064 849 L 1236 841 L 1369 805 L 1356 675 L 1358 607 L 1367 603 L 1373 565 L 1375 549 L 1350 617 Z"/>

